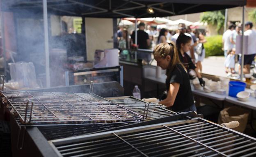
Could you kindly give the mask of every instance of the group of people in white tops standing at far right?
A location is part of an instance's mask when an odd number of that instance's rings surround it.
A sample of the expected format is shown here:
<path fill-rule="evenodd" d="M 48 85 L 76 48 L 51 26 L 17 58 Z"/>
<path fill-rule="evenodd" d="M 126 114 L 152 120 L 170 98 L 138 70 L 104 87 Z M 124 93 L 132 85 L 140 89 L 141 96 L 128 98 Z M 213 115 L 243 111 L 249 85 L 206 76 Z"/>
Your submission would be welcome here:
<path fill-rule="evenodd" d="M 224 50 L 224 56 L 225 56 L 225 68 L 226 73 L 239 73 L 240 69 L 242 68 L 244 74 L 250 73 L 250 66 L 252 62 L 254 61 L 254 57 L 256 55 L 256 31 L 252 30 L 253 23 L 252 22 L 246 22 L 245 23 L 245 44 L 246 46 L 245 55 L 244 55 L 244 67 L 240 67 L 242 64 L 242 57 L 241 54 L 236 53 L 236 44 L 240 43 L 241 41 L 238 41 L 237 38 L 239 35 L 242 35 L 241 31 L 241 24 L 233 24 L 229 22 L 228 29 L 224 32 L 222 36 L 222 43 L 223 43 L 223 50 Z M 239 71 L 235 71 L 235 64 L 239 64 Z"/>

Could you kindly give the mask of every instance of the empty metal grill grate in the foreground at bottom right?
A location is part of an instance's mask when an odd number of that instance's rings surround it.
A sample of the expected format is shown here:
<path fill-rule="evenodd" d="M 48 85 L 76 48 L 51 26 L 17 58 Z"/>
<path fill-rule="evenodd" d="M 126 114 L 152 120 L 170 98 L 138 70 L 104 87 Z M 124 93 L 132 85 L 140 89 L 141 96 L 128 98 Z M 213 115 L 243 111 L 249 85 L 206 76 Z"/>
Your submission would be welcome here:
<path fill-rule="evenodd" d="M 50 142 L 64 157 L 254 157 L 256 139 L 201 118 Z"/>

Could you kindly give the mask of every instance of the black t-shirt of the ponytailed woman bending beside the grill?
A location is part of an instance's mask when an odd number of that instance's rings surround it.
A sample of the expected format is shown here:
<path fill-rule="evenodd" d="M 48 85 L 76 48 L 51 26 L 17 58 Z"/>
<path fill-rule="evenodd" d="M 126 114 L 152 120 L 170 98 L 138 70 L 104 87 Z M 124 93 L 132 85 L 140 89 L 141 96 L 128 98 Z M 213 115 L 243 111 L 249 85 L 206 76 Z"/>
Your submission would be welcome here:
<path fill-rule="evenodd" d="M 177 64 L 174 70 L 167 76 L 165 84 L 168 92 L 170 84 L 174 82 L 180 84 L 180 88 L 171 109 L 179 112 L 194 104 L 189 77 L 180 64 Z"/>

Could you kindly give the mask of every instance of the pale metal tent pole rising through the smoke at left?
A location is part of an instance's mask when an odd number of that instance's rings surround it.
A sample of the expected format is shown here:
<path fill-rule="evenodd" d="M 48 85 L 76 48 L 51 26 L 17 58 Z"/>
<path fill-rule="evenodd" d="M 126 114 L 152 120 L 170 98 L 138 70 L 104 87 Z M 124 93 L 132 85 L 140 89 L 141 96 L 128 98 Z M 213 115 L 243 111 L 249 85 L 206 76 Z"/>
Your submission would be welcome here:
<path fill-rule="evenodd" d="M 50 58 L 48 41 L 48 18 L 47 0 L 43 0 L 43 28 L 44 28 L 44 51 L 46 56 L 46 87 L 50 87 Z"/>

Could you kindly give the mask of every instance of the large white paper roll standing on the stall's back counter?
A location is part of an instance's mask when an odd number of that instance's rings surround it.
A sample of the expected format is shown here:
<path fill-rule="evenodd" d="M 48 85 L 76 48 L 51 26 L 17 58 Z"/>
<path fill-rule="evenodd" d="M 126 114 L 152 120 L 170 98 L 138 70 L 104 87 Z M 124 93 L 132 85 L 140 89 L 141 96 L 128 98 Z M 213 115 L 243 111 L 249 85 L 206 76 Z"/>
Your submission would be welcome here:
<path fill-rule="evenodd" d="M 119 65 L 118 49 L 105 49 L 104 53 L 107 60 L 107 67 Z"/>

